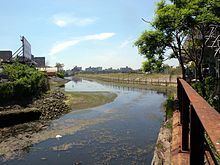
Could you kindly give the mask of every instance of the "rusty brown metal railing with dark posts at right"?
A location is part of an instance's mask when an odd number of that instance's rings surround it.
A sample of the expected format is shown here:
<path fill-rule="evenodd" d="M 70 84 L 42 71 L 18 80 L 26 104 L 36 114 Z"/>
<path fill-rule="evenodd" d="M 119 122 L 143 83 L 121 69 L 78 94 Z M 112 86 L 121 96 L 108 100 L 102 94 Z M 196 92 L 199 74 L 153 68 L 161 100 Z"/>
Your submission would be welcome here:
<path fill-rule="evenodd" d="M 220 114 L 186 81 L 177 79 L 177 98 L 182 125 L 182 151 L 189 151 L 190 164 L 218 164 Z"/>

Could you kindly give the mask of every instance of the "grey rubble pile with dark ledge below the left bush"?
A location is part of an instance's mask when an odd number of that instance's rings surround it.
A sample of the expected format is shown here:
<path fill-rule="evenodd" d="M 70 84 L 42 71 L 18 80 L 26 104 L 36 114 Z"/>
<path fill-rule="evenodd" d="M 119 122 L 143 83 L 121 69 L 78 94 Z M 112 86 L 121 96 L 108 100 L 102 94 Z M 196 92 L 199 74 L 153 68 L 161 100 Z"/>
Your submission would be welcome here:
<path fill-rule="evenodd" d="M 12 105 L 1 107 L 0 127 L 12 126 L 34 120 L 56 119 L 71 110 L 70 107 L 65 104 L 65 99 L 66 96 L 61 91 L 56 90 L 43 94 L 40 98 L 26 106 Z"/>

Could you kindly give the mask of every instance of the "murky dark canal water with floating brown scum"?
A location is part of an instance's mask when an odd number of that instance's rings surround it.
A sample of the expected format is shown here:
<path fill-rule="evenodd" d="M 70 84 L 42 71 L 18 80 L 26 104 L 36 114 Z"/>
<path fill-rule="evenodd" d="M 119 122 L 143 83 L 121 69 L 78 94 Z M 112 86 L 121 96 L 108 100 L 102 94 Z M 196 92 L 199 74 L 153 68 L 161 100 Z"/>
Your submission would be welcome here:
<path fill-rule="evenodd" d="M 1 164 L 150 164 L 163 120 L 164 94 L 86 80 L 69 82 L 65 90 L 111 91 L 118 97 L 53 121 L 27 137 L 24 153 L 2 159 Z M 62 137 L 55 138 L 58 134 Z"/>

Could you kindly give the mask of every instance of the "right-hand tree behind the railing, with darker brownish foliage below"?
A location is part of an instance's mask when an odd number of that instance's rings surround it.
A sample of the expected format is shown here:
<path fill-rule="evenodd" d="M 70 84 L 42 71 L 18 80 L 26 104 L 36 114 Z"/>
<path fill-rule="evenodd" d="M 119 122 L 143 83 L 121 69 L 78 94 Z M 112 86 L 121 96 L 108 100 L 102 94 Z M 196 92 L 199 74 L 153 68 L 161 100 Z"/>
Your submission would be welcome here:
<path fill-rule="evenodd" d="M 174 4 L 179 4 L 179 2 L 175 2 Z M 206 58 L 205 55 L 207 56 L 209 54 L 207 52 L 210 52 L 207 48 L 206 36 L 210 30 L 210 25 L 220 22 L 220 10 L 217 10 L 220 9 L 220 2 L 216 0 L 193 0 L 180 6 L 184 11 L 187 10 L 189 14 L 186 19 L 187 28 L 185 32 L 187 38 L 182 49 L 188 61 L 195 64 L 196 79 L 198 77 L 201 83 L 202 95 L 205 97 L 203 65 Z"/>

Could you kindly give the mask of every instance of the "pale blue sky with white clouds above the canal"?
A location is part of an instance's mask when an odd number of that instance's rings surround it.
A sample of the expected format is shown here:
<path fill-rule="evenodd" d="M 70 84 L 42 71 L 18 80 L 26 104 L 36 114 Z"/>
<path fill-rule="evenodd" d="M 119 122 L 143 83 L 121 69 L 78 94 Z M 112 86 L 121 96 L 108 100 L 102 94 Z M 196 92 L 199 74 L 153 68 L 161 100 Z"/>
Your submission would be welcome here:
<path fill-rule="evenodd" d="M 32 54 L 65 69 L 101 66 L 139 69 L 134 41 L 151 27 L 158 0 L 0 0 L 0 50 L 15 52 L 20 36 Z M 176 61 L 168 61 L 176 65 Z"/>

